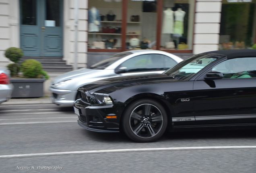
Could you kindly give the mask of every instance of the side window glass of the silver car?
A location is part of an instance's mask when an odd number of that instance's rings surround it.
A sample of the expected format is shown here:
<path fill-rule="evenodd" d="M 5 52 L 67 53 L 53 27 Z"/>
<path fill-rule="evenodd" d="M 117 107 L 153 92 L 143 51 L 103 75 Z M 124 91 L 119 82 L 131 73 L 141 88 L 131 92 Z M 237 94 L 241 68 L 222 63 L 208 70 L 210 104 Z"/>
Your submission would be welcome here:
<path fill-rule="evenodd" d="M 167 70 L 177 64 L 173 59 L 161 54 L 138 55 L 123 62 L 120 67 L 126 67 L 128 72 Z"/>

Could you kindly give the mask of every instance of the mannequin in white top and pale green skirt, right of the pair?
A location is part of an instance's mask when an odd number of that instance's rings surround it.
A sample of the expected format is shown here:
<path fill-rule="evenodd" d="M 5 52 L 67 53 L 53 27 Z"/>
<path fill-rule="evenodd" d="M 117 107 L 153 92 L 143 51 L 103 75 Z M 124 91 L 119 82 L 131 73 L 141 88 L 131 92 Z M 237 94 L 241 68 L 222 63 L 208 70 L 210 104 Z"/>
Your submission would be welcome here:
<path fill-rule="evenodd" d="M 182 36 L 184 33 L 184 16 L 186 12 L 182 11 L 181 8 L 178 8 L 177 11 L 174 12 L 175 16 L 175 24 L 174 24 L 174 34 L 178 34 Z"/>

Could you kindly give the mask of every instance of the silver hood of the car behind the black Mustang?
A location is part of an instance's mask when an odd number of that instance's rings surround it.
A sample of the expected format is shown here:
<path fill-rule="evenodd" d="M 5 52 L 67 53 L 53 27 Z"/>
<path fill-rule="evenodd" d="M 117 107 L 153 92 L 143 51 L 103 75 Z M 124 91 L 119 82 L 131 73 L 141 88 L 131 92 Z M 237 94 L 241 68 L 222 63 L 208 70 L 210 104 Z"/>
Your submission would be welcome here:
<path fill-rule="evenodd" d="M 89 69 L 89 68 L 81 68 L 78 70 L 73 70 L 73 71 L 61 74 L 60 76 L 57 76 L 56 78 L 54 78 L 54 80 L 52 80 L 52 84 L 56 84 L 64 80 L 73 79 L 75 77 L 79 77 L 83 75 L 87 77 L 88 75 L 93 76 L 94 73 L 98 73 L 98 72 L 102 72 L 102 70 L 95 70 L 95 69 Z"/>

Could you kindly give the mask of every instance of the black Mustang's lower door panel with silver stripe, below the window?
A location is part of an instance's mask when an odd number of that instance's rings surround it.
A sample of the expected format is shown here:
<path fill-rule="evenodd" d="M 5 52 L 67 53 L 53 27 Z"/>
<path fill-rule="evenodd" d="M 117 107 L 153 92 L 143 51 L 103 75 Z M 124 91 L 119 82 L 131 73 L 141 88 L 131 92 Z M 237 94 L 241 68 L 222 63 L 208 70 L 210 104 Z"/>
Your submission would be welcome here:
<path fill-rule="evenodd" d="M 194 82 L 197 123 L 256 123 L 256 78 Z"/>

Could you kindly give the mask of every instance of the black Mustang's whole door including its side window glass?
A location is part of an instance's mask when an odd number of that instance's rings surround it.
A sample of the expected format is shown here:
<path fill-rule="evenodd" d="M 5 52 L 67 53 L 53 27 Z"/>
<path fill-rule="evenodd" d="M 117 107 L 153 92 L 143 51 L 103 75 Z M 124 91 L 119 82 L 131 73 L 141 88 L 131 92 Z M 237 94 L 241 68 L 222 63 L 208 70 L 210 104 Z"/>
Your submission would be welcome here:
<path fill-rule="evenodd" d="M 222 79 L 194 81 L 194 115 L 197 124 L 256 123 L 256 57 L 225 60 L 209 71 Z M 246 74 L 246 75 L 244 75 Z"/>

